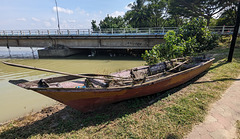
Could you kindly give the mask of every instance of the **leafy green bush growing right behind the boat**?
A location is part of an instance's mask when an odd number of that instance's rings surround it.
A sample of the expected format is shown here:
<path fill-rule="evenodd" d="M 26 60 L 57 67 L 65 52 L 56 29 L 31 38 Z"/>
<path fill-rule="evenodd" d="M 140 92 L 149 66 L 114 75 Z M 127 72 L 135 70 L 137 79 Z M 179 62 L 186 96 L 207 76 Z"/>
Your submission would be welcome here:
<path fill-rule="evenodd" d="M 169 31 L 164 36 L 165 43 L 158 44 L 142 55 L 147 64 L 191 56 L 216 47 L 218 36 L 212 34 L 202 18 L 193 19 L 180 27 L 177 32 Z"/>

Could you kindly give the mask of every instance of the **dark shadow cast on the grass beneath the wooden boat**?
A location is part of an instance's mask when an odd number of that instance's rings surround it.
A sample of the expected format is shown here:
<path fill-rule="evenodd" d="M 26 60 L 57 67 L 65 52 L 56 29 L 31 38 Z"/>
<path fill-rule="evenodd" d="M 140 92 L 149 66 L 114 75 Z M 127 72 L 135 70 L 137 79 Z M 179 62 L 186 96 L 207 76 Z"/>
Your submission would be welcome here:
<path fill-rule="evenodd" d="M 111 104 L 101 110 L 91 113 L 84 114 L 70 107 L 65 107 L 53 115 L 32 124 L 23 127 L 14 127 L 2 132 L 0 133 L 0 138 L 28 138 L 43 134 L 63 134 L 78 131 L 90 126 L 93 126 L 92 129 L 94 128 L 94 132 L 91 131 L 91 129 L 86 132 L 90 132 L 89 134 L 91 134 L 91 132 L 96 133 L 103 129 L 109 122 L 114 121 L 117 118 L 125 117 L 131 113 L 135 113 L 171 94 L 176 93 L 189 84 L 194 83 L 206 73 L 207 72 L 204 72 L 191 81 L 168 91 Z M 98 126 L 100 124 L 101 126 Z"/>

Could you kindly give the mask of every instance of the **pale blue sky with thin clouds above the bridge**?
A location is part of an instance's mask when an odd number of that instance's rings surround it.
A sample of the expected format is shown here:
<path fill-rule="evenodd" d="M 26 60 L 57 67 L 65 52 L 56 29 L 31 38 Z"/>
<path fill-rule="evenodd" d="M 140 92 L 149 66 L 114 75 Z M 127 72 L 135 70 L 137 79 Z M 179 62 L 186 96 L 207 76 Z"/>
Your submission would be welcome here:
<path fill-rule="evenodd" d="M 107 14 L 124 15 L 134 0 L 57 0 L 61 29 L 91 29 Z M 57 29 L 55 0 L 1 0 L 0 30 Z"/>

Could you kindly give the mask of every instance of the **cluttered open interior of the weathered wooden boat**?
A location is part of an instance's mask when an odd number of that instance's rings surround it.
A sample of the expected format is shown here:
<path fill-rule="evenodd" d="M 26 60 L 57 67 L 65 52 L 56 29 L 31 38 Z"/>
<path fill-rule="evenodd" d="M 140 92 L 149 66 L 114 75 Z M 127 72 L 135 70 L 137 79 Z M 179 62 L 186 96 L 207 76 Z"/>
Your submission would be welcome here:
<path fill-rule="evenodd" d="M 200 65 L 208 58 L 178 58 L 171 61 L 161 62 L 150 66 L 140 66 L 120 72 L 115 72 L 107 76 L 89 76 L 80 78 L 79 76 L 59 76 L 36 81 L 10 80 L 10 83 L 23 88 L 109 88 L 118 86 L 129 86 L 142 84 L 160 77 L 180 72 L 194 66 Z M 79 74 L 81 75 L 81 74 Z"/>

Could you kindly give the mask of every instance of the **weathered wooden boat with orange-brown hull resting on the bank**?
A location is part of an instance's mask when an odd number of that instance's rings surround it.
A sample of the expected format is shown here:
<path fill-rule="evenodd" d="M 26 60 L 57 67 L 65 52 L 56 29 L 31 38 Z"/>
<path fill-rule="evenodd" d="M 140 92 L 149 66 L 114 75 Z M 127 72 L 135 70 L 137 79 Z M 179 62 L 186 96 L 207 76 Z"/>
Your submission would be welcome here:
<path fill-rule="evenodd" d="M 213 60 L 213 58 L 199 57 L 189 60 L 175 59 L 108 76 L 85 74 L 85 80 L 79 74 L 36 81 L 9 82 L 36 91 L 82 112 L 88 112 L 110 103 L 147 96 L 179 86 L 207 70 Z M 169 68 L 169 64 L 175 67 Z"/>

